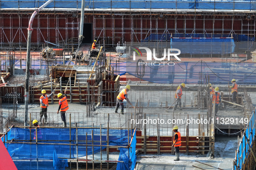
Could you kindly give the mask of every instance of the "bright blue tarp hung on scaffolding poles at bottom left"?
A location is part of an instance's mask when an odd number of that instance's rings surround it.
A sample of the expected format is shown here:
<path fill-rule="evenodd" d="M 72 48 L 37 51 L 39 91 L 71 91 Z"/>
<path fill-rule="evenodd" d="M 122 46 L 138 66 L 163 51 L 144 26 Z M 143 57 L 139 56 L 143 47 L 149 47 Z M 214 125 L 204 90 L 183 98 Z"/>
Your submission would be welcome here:
<path fill-rule="evenodd" d="M 93 135 L 92 135 L 93 130 Z M 35 129 L 31 129 L 31 140 L 36 142 L 34 139 Z M 42 134 L 42 139 L 38 138 L 39 143 L 56 143 L 56 145 L 36 145 L 35 144 L 18 144 L 11 143 L 5 144 L 9 154 L 14 159 L 14 163 L 18 169 L 21 170 L 35 170 L 37 168 L 36 158 L 40 160 L 40 166 L 45 170 L 51 169 L 63 169 L 67 165 L 67 160 L 59 159 L 62 158 L 75 158 L 85 156 L 86 154 L 97 153 L 100 149 L 105 149 L 102 146 L 84 146 L 86 145 L 86 133 L 87 133 L 87 145 L 100 145 L 100 129 L 90 128 L 90 129 L 71 129 L 71 135 L 69 129 L 51 129 L 51 128 L 41 128 L 38 129 L 38 134 Z M 58 144 L 69 144 L 71 139 L 71 144 L 76 144 L 76 133 L 78 134 L 78 150 L 76 150 L 76 145 L 58 145 Z M 92 136 L 94 141 L 91 142 Z M 7 135 L 8 141 L 14 139 L 15 142 L 24 142 L 24 140 L 29 142 L 30 140 L 30 130 L 21 128 L 12 128 Z M 3 138 L 2 138 L 3 140 Z M 45 141 L 44 141 L 45 140 Z M 107 145 L 107 129 L 101 129 L 101 145 Z M 6 137 L 5 137 L 6 141 Z M 83 141 L 83 142 L 81 142 Z M 109 129 L 109 145 L 113 146 L 127 146 L 128 145 L 128 130 L 113 130 Z M 87 151 L 86 151 L 87 149 Z M 78 151 L 78 153 L 77 153 Z M 46 159 L 46 160 L 45 160 Z M 31 163 L 32 162 L 32 163 Z M 45 164 L 44 164 L 45 163 Z M 39 168 L 41 169 L 41 168 Z"/>

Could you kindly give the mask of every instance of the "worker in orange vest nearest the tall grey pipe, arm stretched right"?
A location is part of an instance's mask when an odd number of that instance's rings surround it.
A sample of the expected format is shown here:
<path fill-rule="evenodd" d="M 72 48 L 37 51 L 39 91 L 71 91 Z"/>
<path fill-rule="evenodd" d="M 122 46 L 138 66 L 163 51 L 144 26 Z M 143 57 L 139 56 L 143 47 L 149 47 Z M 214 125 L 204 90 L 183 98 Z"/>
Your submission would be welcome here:
<path fill-rule="evenodd" d="M 49 96 L 47 96 L 46 91 L 42 90 L 42 96 L 39 99 L 40 107 L 41 107 L 39 124 L 42 123 L 42 116 L 45 116 L 45 123 L 47 123 L 47 107 L 49 106 L 48 98 L 52 97 L 54 92 L 55 92 L 55 90 L 53 90 L 52 93 Z"/>

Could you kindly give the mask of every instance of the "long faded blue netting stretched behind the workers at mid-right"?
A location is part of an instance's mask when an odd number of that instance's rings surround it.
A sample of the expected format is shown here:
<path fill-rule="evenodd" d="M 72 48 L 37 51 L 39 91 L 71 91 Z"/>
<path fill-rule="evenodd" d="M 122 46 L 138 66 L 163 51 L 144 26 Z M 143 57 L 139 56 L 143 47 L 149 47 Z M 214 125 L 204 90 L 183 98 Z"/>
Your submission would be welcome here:
<path fill-rule="evenodd" d="M 181 57 L 182 61 L 182 57 Z M 255 63 L 231 63 L 231 62 L 176 62 L 174 66 L 167 64 L 154 66 L 152 62 L 145 61 L 145 69 L 137 69 L 137 61 L 126 62 L 114 65 L 117 68 L 117 74 L 126 72 L 130 75 L 154 83 L 181 83 L 198 84 L 200 82 L 199 75 L 209 76 L 212 84 L 227 84 L 232 79 L 236 79 L 238 84 L 256 84 L 256 64 Z M 153 62 L 154 63 L 154 62 Z M 142 67 L 140 65 L 139 67 Z M 126 78 L 128 81 L 129 78 Z M 202 80 L 203 81 L 203 80 Z"/>

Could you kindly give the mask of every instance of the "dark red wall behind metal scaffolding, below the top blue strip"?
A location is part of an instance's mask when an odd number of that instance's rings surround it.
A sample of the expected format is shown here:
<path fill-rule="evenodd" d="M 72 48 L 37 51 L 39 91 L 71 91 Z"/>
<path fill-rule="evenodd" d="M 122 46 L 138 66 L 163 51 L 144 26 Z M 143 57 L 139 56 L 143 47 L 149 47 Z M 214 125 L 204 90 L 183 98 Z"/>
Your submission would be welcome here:
<path fill-rule="evenodd" d="M 19 47 L 26 45 L 29 12 L 0 14 L 0 45 Z M 98 43 L 116 44 L 129 41 L 141 41 L 151 34 L 236 34 L 255 37 L 255 16 L 246 14 L 161 14 L 161 13 L 85 13 L 85 39 Z M 78 37 L 80 12 L 49 13 L 42 11 L 34 19 L 32 45 L 57 44 L 71 46 L 72 38 Z M 88 31 L 89 30 L 89 31 Z M 91 34 L 92 36 L 86 36 Z M 45 42 L 47 41 L 47 42 Z"/>

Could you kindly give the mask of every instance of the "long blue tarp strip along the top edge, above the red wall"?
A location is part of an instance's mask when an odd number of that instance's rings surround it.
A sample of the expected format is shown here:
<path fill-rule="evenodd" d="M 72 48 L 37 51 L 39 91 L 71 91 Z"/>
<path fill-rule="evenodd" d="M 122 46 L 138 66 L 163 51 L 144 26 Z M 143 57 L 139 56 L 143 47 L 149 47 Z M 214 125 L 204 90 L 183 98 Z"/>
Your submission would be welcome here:
<path fill-rule="evenodd" d="M 0 0 L 0 8 L 38 8 L 46 0 Z M 46 8 L 81 8 L 81 0 L 53 0 Z M 86 0 L 87 9 L 256 10 L 256 0 Z"/>

